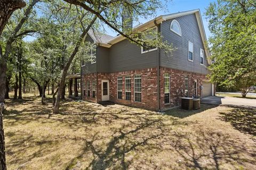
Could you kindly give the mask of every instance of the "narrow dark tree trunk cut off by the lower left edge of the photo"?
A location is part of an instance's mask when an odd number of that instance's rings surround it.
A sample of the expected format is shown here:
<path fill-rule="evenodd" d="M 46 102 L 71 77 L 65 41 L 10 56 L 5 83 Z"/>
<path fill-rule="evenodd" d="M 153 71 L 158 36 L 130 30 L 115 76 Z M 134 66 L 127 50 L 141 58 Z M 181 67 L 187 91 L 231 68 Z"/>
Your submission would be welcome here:
<path fill-rule="evenodd" d="M 0 169 L 6 170 L 3 113 L 4 105 L 0 103 Z"/>

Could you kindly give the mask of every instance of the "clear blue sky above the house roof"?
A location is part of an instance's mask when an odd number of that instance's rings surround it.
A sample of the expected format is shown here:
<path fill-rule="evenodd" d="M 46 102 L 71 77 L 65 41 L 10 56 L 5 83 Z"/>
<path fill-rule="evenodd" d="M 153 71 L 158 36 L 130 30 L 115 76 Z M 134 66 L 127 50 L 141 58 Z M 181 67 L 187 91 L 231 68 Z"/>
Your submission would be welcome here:
<path fill-rule="evenodd" d="M 205 9 L 207 8 L 207 6 L 209 6 L 210 2 L 216 2 L 216 1 L 217 0 L 172 0 L 169 3 L 167 3 L 167 7 L 166 7 L 167 11 L 159 10 L 156 16 L 183 12 L 183 11 L 190 11 L 190 10 L 195 10 L 199 8 L 202 15 L 206 37 L 208 38 L 211 35 L 211 33 L 208 29 L 208 22 L 205 19 L 204 13 L 206 11 Z M 152 19 L 154 19 L 154 17 Z M 140 22 L 145 23 L 147 21 L 140 20 Z M 112 31 L 109 28 L 106 28 L 106 31 L 111 36 L 116 36 L 117 34 L 116 32 Z"/>

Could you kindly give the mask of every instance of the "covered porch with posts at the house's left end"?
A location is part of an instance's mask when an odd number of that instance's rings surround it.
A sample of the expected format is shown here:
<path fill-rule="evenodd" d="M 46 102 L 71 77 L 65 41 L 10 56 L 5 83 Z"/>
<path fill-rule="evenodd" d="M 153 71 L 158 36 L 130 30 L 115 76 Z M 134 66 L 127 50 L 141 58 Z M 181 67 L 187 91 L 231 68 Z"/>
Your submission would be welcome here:
<path fill-rule="evenodd" d="M 78 100 L 82 99 L 81 96 L 81 74 L 67 75 L 68 79 L 68 98 Z"/>

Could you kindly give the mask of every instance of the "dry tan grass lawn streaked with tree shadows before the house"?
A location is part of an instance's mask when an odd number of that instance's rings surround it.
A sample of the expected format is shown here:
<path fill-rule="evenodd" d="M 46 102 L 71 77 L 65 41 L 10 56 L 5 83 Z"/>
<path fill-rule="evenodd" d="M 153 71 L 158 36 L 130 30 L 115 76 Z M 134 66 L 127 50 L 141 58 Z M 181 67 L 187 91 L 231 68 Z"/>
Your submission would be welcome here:
<path fill-rule="evenodd" d="M 8 169 L 256 169 L 256 111 L 7 100 Z"/>

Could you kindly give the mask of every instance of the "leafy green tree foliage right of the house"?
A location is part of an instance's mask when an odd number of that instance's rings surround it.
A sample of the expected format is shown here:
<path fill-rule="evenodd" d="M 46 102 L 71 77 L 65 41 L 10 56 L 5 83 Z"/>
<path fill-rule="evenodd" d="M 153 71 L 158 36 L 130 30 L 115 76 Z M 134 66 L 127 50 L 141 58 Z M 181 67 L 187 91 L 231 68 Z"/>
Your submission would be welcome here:
<path fill-rule="evenodd" d="M 212 32 L 211 81 L 228 88 L 247 89 L 255 84 L 256 4 L 254 1 L 219 0 L 207 8 Z M 254 82 L 254 83 L 253 83 Z"/>

